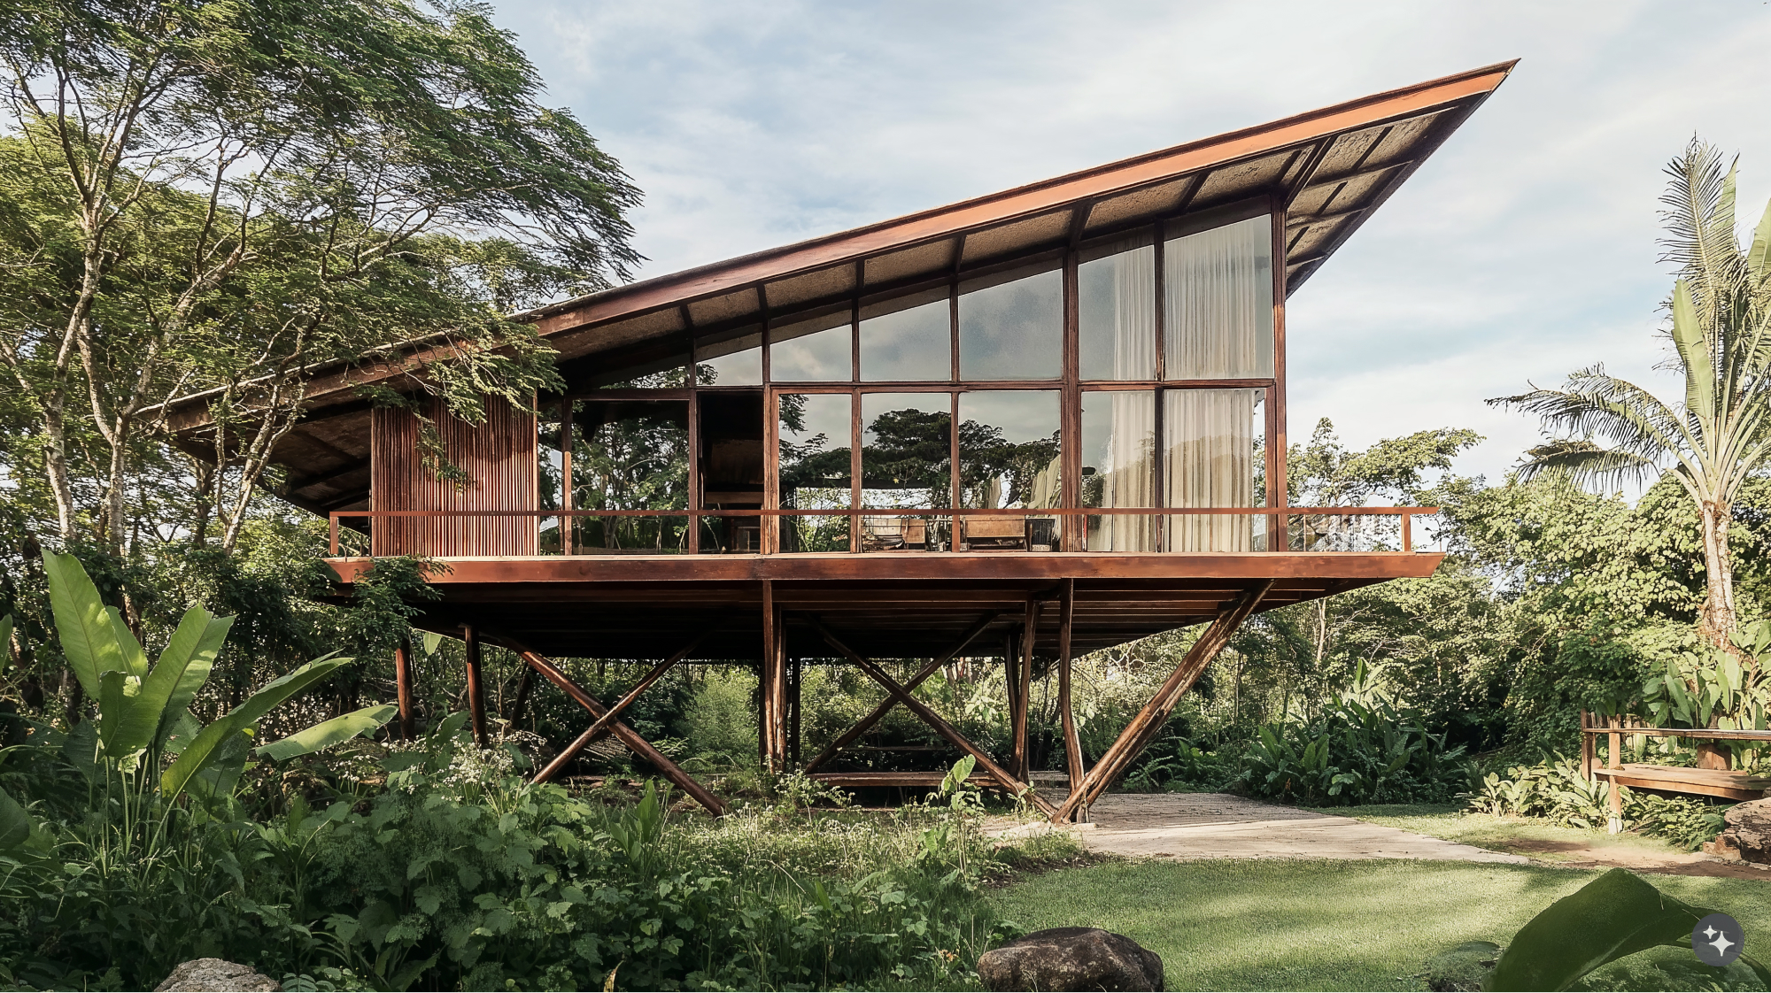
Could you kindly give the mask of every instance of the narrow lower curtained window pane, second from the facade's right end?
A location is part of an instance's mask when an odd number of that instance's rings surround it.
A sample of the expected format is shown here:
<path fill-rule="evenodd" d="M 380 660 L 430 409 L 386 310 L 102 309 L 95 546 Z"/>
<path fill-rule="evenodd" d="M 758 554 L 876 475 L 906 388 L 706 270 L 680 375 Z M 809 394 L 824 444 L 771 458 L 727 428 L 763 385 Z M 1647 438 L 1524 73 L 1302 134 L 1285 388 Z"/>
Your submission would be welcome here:
<path fill-rule="evenodd" d="M 1156 395 L 1082 395 L 1082 506 L 1156 506 Z M 1087 519 L 1091 552 L 1156 550 L 1156 519 Z"/>

